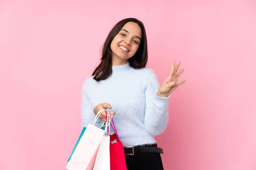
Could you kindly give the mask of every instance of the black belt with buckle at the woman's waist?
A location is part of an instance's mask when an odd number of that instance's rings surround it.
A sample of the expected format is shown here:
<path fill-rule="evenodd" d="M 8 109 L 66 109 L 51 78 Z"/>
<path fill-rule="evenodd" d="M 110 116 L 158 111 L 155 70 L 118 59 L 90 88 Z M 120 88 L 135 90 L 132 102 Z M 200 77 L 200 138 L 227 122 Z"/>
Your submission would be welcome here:
<path fill-rule="evenodd" d="M 125 155 L 134 155 L 137 153 L 163 153 L 163 149 L 160 147 L 124 147 Z"/>

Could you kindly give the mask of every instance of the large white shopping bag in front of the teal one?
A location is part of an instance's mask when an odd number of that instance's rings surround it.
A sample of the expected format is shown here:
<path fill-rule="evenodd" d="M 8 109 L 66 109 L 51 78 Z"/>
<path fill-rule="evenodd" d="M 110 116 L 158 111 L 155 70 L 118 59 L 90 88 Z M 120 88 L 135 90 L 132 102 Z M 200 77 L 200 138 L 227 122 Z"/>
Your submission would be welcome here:
<path fill-rule="evenodd" d="M 105 133 L 105 130 L 95 126 L 95 122 L 104 111 L 106 110 L 99 111 L 93 122 L 84 130 L 70 161 L 67 163 L 67 170 L 93 170 L 99 144 Z"/>

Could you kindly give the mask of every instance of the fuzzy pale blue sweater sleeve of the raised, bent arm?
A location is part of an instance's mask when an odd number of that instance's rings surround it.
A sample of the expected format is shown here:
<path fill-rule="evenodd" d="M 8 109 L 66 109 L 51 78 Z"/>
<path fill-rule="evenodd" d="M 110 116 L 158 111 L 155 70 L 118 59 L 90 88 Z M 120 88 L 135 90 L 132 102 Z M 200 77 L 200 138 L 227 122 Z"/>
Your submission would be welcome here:
<path fill-rule="evenodd" d="M 157 96 L 160 84 L 153 70 L 149 69 L 144 82 L 145 88 L 145 119 L 144 124 L 149 133 L 159 135 L 168 123 L 169 97 Z"/>

